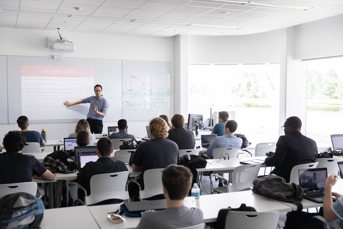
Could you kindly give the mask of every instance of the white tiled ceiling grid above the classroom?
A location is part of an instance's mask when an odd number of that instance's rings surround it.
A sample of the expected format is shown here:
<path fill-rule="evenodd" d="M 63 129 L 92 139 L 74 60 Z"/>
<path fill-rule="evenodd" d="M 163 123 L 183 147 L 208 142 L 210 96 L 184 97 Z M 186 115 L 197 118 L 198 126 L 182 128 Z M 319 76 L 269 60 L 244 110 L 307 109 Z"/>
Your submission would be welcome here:
<path fill-rule="evenodd" d="M 115 20 L 67 18 L 0 12 L 0 27 L 29 28 L 131 36 L 170 37 L 190 35 L 239 35 L 267 32 L 343 14 L 343 0 L 258 0 L 312 7 L 306 11 L 189 0 L 0 0 L 0 9 L 91 15 L 161 22 L 138 23 Z M 81 11 L 75 10 L 81 7 Z M 228 12 L 229 14 L 219 14 Z M 170 25 L 192 23 L 221 27 Z"/>

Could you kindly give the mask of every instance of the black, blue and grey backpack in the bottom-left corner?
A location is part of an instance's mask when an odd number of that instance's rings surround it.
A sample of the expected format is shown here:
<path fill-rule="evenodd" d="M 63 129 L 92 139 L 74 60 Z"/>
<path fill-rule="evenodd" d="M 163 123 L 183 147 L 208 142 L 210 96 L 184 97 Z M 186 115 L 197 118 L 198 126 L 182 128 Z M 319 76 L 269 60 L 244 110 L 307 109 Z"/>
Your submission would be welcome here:
<path fill-rule="evenodd" d="M 19 192 L 0 199 L 0 229 L 31 229 L 39 227 L 45 210 L 41 199 Z"/>

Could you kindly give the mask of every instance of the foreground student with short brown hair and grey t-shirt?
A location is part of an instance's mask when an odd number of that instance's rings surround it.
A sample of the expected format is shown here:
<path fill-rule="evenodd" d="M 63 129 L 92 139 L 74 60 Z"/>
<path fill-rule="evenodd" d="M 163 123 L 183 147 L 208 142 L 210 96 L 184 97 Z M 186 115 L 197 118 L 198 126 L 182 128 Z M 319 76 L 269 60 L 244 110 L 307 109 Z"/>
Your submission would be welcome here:
<path fill-rule="evenodd" d="M 168 165 L 162 172 L 163 195 L 167 208 L 160 211 L 145 211 L 136 229 L 169 229 L 189 227 L 203 222 L 200 208 L 184 205 L 193 175 L 182 165 Z"/>

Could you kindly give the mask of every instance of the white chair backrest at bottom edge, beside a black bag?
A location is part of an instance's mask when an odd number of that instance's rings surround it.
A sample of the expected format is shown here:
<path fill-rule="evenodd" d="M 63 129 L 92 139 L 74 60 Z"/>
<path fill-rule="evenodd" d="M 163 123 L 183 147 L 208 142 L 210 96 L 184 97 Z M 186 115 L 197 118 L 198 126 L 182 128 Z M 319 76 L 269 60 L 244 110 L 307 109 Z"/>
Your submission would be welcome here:
<path fill-rule="evenodd" d="M 277 211 L 229 211 L 225 220 L 225 229 L 275 229 L 278 221 Z"/>

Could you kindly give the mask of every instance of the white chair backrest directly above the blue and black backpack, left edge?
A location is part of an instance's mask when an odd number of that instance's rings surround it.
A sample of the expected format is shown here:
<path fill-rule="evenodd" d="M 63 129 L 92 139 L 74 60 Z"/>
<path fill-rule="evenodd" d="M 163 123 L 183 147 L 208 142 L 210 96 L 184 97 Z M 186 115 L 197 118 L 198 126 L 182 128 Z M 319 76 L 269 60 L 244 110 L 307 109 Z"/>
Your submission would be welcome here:
<path fill-rule="evenodd" d="M 13 184 L 0 184 L 0 199 L 9 194 L 25 192 L 36 196 L 37 194 L 37 183 L 36 182 L 23 182 Z"/>

